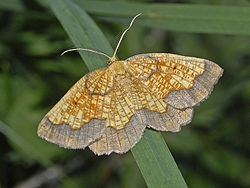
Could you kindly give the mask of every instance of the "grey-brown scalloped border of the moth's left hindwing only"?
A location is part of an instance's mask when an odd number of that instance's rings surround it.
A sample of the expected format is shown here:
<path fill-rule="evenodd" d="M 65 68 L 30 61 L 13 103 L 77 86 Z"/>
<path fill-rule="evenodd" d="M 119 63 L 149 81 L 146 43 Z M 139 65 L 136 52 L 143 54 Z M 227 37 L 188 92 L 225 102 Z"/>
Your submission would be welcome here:
<path fill-rule="evenodd" d="M 105 128 L 102 138 L 92 143 L 89 148 L 97 155 L 125 153 L 141 139 L 145 128 L 140 114 L 135 112 L 124 129 Z"/>

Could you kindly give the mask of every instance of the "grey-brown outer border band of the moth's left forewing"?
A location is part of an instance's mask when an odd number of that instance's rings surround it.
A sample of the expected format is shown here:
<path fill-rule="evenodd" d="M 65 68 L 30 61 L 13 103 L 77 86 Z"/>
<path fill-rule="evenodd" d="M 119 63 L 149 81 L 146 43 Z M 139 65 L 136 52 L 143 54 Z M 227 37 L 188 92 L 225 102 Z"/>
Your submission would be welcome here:
<path fill-rule="evenodd" d="M 84 149 L 100 139 L 105 129 L 106 120 L 92 119 L 78 130 L 66 124 L 54 125 L 48 117 L 44 117 L 38 126 L 38 135 L 43 139 L 70 149 Z"/>

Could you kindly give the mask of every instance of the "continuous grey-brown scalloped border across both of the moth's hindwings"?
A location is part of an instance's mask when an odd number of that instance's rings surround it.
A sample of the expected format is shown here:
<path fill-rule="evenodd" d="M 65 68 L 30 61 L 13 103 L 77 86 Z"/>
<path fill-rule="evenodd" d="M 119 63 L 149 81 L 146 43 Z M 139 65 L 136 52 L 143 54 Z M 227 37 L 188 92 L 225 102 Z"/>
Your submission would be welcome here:
<path fill-rule="evenodd" d="M 178 110 L 171 106 L 168 106 L 166 113 L 148 109 L 137 110 L 124 129 L 105 128 L 102 138 L 92 143 L 89 148 L 97 155 L 125 153 L 141 139 L 146 125 L 159 131 L 178 132 L 181 126 L 190 123 L 192 115 L 192 108 Z"/>

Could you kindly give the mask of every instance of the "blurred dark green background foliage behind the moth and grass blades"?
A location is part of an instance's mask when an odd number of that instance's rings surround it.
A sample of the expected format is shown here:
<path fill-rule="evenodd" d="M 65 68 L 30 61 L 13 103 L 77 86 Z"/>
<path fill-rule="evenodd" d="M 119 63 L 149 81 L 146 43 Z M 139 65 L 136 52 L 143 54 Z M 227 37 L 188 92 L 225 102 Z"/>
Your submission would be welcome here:
<path fill-rule="evenodd" d="M 137 2 L 250 5 L 247 0 Z M 113 47 L 131 19 L 125 25 L 86 11 Z M 195 108 L 192 123 L 179 133 L 162 133 L 189 187 L 250 187 L 249 34 L 176 32 L 135 23 L 119 49 L 120 59 L 169 52 L 224 68 L 211 97 Z M 88 71 L 77 53 L 60 56 L 72 47 L 45 1 L 0 2 L 0 187 L 145 187 L 131 152 L 97 157 L 36 135 L 46 112 Z"/>

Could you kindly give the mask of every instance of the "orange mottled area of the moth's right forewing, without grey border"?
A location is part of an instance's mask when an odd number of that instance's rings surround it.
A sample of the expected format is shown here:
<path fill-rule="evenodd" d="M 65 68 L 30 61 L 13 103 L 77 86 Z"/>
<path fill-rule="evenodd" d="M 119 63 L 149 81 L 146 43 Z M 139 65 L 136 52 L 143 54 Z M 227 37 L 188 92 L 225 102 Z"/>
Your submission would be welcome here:
<path fill-rule="evenodd" d="M 144 57 L 151 59 L 147 64 Z M 141 54 L 126 60 L 130 70 L 134 64 L 150 66 L 152 62 L 157 64 L 157 69 L 147 74 L 144 84 L 160 98 L 165 98 L 172 90 L 190 89 L 193 87 L 195 77 L 205 71 L 205 64 L 199 58 L 189 58 L 167 53 Z M 133 69 L 133 68 L 132 68 Z M 132 74 L 136 73 L 131 71 Z"/>

